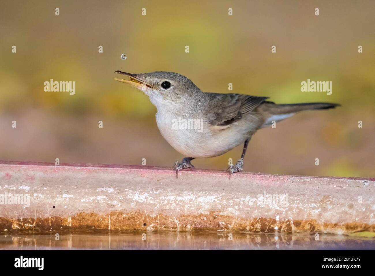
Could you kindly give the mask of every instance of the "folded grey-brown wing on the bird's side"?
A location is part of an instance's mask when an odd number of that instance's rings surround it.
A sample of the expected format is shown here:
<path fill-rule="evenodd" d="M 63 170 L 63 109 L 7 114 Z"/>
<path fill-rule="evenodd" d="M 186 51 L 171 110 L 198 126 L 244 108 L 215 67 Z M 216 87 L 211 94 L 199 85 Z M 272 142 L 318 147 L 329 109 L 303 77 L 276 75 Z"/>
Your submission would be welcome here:
<path fill-rule="evenodd" d="M 243 94 L 209 94 L 208 123 L 213 126 L 233 124 L 268 99 Z"/>

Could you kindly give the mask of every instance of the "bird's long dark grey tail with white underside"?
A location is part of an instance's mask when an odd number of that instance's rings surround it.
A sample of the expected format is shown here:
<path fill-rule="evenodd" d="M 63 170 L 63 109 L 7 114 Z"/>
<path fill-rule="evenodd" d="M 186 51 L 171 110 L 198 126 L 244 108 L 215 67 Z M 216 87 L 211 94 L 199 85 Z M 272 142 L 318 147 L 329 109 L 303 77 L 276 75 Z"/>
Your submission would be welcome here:
<path fill-rule="evenodd" d="M 268 127 L 274 121 L 279 122 L 303 110 L 331 109 L 336 106 L 340 105 L 333 103 L 275 104 L 266 101 L 261 106 L 265 119 L 262 128 Z"/>

